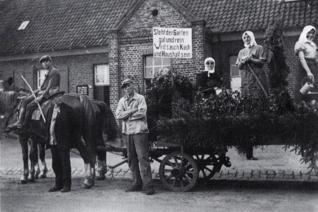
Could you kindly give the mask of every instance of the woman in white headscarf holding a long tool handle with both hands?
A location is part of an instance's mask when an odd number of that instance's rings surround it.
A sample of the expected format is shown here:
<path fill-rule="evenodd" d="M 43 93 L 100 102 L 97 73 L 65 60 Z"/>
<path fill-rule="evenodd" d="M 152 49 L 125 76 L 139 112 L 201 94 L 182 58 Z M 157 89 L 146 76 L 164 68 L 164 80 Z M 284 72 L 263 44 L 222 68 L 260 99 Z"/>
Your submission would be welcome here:
<path fill-rule="evenodd" d="M 253 32 L 244 32 L 242 39 L 244 41 L 245 48 L 239 51 L 238 59 L 236 61 L 236 65 L 239 66 L 241 71 L 242 95 L 254 95 L 259 97 L 261 93 L 261 86 L 250 71 L 249 66 L 252 68 L 260 82 L 263 82 L 263 65 L 266 62 L 267 55 L 263 46 L 256 43 Z M 256 89 L 252 91 L 254 88 Z"/>

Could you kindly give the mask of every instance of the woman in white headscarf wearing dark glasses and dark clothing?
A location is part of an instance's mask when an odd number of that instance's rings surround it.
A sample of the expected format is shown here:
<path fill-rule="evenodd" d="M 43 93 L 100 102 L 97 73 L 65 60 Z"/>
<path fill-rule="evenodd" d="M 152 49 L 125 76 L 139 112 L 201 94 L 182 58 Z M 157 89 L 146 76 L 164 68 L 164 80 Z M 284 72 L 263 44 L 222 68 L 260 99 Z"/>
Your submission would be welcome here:
<path fill-rule="evenodd" d="M 206 58 L 204 67 L 204 71 L 197 74 L 197 86 L 203 97 L 208 98 L 211 94 L 215 94 L 215 88 L 222 85 L 222 73 L 215 70 L 213 58 Z"/>

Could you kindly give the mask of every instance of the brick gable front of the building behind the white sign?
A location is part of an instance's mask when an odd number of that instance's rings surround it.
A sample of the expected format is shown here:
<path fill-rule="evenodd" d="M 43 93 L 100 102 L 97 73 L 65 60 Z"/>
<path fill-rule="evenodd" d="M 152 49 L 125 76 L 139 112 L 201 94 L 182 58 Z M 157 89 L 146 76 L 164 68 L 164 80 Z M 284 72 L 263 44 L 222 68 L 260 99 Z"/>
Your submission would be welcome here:
<path fill-rule="evenodd" d="M 154 17 L 151 11 L 157 9 L 158 15 Z M 192 58 L 173 58 L 171 67 L 174 72 L 183 72 L 191 79 L 195 79 L 196 73 L 204 69 L 205 55 L 211 55 L 211 44 L 206 46 L 204 23 L 191 23 L 179 11 L 171 5 L 154 0 L 146 1 L 135 11 L 134 15 L 124 24 L 120 31 L 120 38 L 112 38 L 110 33 L 110 72 L 111 81 L 118 87 L 118 75 L 120 83 L 125 78 L 131 78 L 135 82 L 135 88 L 144 91 L 144 56 L 152 54 L 152 27 L 191 28 L 192 27 Z M 119 45 L 119 51 L 118 51 Z M 112 53 L 114 52 L 114 53 Z M 148 52 L 148 53 L 145 53 Z M 119 60 L 116 57 L 119 55 Z M 119 62 L 119 64 L 118 64 Z M 120 93 L 120 94 L 119 94 Z M 118 95 L 124 92 L 111 92 L 111 108 L 116 109 Z M 112 101 L 113 100 L 113 101 Z"/>

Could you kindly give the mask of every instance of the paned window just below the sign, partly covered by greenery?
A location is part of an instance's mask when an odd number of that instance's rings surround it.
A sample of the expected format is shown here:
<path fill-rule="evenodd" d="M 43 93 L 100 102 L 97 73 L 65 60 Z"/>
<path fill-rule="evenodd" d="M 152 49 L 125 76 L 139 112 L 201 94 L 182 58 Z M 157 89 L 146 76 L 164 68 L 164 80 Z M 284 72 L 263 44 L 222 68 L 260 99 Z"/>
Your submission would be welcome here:
<path fill-rule="evenodd" d="M 150 84 L 154 76 L 160 74 L 164 68 L 170 69 L 170 58 L 156 58 L 151 55 L 145 56 L 145 88 Z"/>

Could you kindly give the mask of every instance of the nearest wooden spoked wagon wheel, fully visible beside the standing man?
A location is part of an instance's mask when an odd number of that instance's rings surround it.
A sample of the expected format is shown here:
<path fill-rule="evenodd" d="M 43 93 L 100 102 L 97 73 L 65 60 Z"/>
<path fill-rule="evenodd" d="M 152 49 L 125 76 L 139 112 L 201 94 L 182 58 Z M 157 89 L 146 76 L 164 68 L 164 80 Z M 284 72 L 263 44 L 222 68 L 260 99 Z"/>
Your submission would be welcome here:
<path fill-rule="evenodd" d="M 161 161 L 159 175 L 162 184 L 171 191 L 187 191 L 197 182 L 197 163 L 186 153 L 173 152 Z"/>

